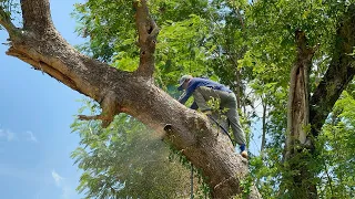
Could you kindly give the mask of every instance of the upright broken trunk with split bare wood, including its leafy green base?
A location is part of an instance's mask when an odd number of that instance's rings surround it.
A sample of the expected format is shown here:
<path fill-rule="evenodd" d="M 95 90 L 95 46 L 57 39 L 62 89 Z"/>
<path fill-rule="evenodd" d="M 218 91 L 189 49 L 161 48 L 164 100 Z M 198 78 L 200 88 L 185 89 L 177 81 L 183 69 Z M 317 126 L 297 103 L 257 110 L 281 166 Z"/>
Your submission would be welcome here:
<path fill-rule="evenodd" d="M 310 91 L 308 74 L 312 65 L 314 50 L 307 46 L 305 33 L 295 32 L 297 44 L 297 59 L 291 72 L 291 83 L 287 105 L 287 135 L 285 145 L 284 174 L 285 189 L 292 198 L 316 198 L 314 174 L 307 168 L 311 161 L 303 149 L 310 146 Z"/>

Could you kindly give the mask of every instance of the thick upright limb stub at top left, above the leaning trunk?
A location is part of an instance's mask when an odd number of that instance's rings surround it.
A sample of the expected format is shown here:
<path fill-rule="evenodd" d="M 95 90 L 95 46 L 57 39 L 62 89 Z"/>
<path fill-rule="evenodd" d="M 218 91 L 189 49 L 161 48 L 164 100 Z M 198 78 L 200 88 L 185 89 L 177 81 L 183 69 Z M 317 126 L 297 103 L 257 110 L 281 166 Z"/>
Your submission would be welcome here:
<path fill-rule="evenodd" d="M 23 29 L 44 33 L 52 28 L 49 0 L 21 0 Z"/>

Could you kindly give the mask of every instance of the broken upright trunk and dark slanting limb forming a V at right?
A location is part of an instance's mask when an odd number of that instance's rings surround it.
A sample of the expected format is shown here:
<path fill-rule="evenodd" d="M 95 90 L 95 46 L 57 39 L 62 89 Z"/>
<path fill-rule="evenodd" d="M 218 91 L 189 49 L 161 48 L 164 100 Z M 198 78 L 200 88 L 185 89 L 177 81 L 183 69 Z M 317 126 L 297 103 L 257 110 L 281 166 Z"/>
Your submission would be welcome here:
<path fill-rule="evenodd" d="M 331 64 L 310 98 L 308 78 L 314 48 L 308 48 L 304 32 L 296 32 L 297 59 L 291 74 L 287 135 L 284 159 L 291 171 L 292 198 L 317 198 L 316 174 L 307 161 L 316 156 L 316 138 L 335 102 L 355 75 L 355 4 L 351 4 L 337 28 Z M 303 149 L 310 155 L 303 155 Z M 295 158 L 295 159 L 293 159 Z"/>

